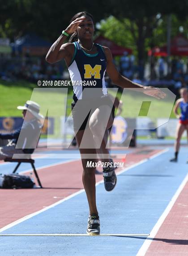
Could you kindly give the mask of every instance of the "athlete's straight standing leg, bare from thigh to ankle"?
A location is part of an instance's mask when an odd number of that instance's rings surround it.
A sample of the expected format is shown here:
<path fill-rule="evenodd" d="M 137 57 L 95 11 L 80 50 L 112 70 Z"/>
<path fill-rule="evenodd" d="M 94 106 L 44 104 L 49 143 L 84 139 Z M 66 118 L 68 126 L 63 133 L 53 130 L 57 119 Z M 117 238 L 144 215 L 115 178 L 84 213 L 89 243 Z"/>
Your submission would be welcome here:
<path fill-rule="evenodd" d="M 84 133 L 85 132 L 85 133 Z M 90 143 L 90 147 L 91 148 L 80 148 L 80 144 L 81 144 L 81 139 L 82 137 L 85 137 L 86 140 L 88 140 L 88 142 Z M 85 188 L 85 193 L 87 196 L 87 200 L 88 200 L 88 204 L 89 204 L 89 208 L 90 208 L 90 215 L 91 214 L 97 214 L 98 215 L 98 211 L 97 211 L 97 206 L 96 206 L 96 189 L 95 189 L 95 167 L 87 167 L 87 162 L 98 162 L 98 160 L 96 159 L 97 157 L 97 152 L 94 148 L 94 141 L 93 140 L 93 135 L 90 132 L 90 129 L 87 130 L 80 130 L 77 132 L 76 135 L 76 139 L 77 139 L 77 144 L 79 146 L 79 150 L 81 153 L 81 162 L 82 162 L 82 166 L 83 166 L 83 175 L 82 175 L 82 181 L 84 184 L 84 188 Z M 92 148 L 93 145 L 93 148 Z M 86 158 L 88 156 L 88 154 L 91 154 L 91 156 L 95 156 L 93 158 Z"/>

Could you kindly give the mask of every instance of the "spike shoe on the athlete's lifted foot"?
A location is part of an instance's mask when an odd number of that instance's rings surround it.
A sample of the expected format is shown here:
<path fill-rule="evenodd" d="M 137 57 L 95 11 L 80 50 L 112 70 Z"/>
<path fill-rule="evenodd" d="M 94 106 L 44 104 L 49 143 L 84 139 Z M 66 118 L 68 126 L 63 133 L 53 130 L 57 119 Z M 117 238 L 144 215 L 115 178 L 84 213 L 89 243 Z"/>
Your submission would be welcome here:
<path fill-rule="evenodd" d="M 111 159 L 113 163 L 113 160 Z M 112 167 L 103 168 L 103 177 L 104 177 L 104 187 L 107 191 L 111 191 L 115 188 L 117 183 L 117 177 L 115 175 L 114 163 Z"/>

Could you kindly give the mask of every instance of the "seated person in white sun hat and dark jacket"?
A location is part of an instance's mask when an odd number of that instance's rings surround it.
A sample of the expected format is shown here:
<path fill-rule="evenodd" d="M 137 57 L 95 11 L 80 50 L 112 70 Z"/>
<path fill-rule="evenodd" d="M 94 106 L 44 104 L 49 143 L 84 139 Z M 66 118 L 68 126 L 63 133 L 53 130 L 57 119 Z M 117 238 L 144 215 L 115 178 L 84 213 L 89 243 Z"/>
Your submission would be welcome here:
<path fill-rule="evenodd" d="M 13 154 L 32 154 L 37 146 L 41 132 L 40 119 L 43 115 L 39 113 L 40 106 L 34 101 L 26 101 L 22 109 L 23 125 L 12 133 L 0 134 L 0 139 L 11 139 L 9 144 L 0 147 L 0 160 L 12 158 Z"/>

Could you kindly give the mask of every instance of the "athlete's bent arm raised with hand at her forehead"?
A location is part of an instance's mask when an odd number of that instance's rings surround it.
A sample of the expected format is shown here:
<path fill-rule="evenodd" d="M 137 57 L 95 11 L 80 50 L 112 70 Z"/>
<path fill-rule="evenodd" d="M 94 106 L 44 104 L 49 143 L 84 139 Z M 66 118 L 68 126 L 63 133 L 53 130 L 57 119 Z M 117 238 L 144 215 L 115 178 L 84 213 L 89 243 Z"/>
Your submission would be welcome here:
<path fill-rule="evenodd" d="M 65 29 L 65 32 L 68 35 L 72 34 L 82 22 L 83 18 L 77 18 Z M 67 39 L 67 36 L 61 35 L 56 42 L 51 45 L 47 56 L 46 61 L 48 63 L 56 63 L 61 59 L 65 59 L 66 63 L 69 64 L 71 62 L 73 53 L 74 53 L 74 45 L 72 43 L 64 44 L 64 41 Z"/>

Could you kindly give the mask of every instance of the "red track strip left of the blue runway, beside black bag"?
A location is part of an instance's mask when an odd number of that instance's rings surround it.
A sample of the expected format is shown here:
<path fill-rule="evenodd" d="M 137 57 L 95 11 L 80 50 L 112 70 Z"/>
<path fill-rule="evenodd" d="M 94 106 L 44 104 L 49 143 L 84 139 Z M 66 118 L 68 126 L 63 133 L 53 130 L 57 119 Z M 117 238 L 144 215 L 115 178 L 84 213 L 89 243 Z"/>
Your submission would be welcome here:
<path fill-rule="evenodd" d="M 160 150 L 144 153 L 141 149 L 136 149 L 126 159 L 124 155 L 119 155 L 114 161 L 124 162 L 125 168 L 158 152 Z M 38 175 L 43 189 L 0 190 L 0 228 L 83 189 L 80 160 L 38 170 Z M 102 175 L 96 175 L 97 182 L 102 179 Z"/>

